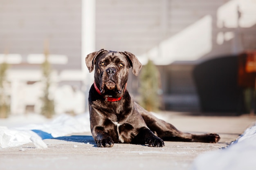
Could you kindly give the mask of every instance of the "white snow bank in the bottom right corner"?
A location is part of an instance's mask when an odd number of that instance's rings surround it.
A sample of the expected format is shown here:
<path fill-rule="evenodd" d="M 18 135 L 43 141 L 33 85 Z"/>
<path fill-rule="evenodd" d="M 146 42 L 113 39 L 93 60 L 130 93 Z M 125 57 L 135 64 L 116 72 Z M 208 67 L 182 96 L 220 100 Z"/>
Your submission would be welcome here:
<path fill-rule="evenodd" d="M 255 170 L 256 125 L 227 148 L 198 156 L 191 170 Z"/>

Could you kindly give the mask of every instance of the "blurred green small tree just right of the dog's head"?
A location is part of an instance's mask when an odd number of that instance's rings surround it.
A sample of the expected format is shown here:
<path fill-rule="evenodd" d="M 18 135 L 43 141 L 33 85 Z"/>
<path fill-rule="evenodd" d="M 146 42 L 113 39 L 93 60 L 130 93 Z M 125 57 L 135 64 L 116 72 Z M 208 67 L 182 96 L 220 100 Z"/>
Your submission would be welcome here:
<path fill-rule="evenodd" d="M 140 105 L 148 111 L 157 111 L 159 109 L 159 72 L 152 61 L 149 60 L 143 67 L 139 78 Z"/>

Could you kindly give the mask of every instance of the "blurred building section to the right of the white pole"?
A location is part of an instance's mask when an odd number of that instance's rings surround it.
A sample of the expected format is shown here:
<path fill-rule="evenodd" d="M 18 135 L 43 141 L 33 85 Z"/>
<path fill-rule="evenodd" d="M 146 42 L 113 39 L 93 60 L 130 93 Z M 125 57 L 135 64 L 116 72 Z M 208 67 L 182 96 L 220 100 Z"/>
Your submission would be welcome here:
<path fill-rule="evenodd" d="M 242 111 L 237 56 L 256 48 L 255 8 L 256 0 L 96 0 L 96 47 L 153 60 L 164 109 Z"/>

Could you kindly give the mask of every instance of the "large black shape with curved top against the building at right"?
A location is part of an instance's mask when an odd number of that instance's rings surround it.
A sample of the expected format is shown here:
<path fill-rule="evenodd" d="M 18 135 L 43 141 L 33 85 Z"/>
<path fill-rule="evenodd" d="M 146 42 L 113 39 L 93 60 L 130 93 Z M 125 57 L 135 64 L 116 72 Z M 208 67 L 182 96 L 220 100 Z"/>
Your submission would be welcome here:
<path fill-rule="evenodd" d="M 236 112 L 245 110 L 243 89 L 238 87 L 238 57 L 207 60 L 193 70 L 202 112 Z"/>

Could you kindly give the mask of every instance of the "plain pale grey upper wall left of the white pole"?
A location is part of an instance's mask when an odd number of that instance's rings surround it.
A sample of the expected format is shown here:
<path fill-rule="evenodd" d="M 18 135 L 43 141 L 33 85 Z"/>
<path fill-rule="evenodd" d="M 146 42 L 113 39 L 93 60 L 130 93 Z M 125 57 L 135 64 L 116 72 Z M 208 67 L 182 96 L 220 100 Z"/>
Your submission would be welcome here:
<path fill-rule="evenodd" d="M 0 53 L 21 54 L 25 63 L 44 52 L 45 40 L 50 54 L 69 59 L 56 68 L 81 68 L 81 0 L 0 0 Z"/>

